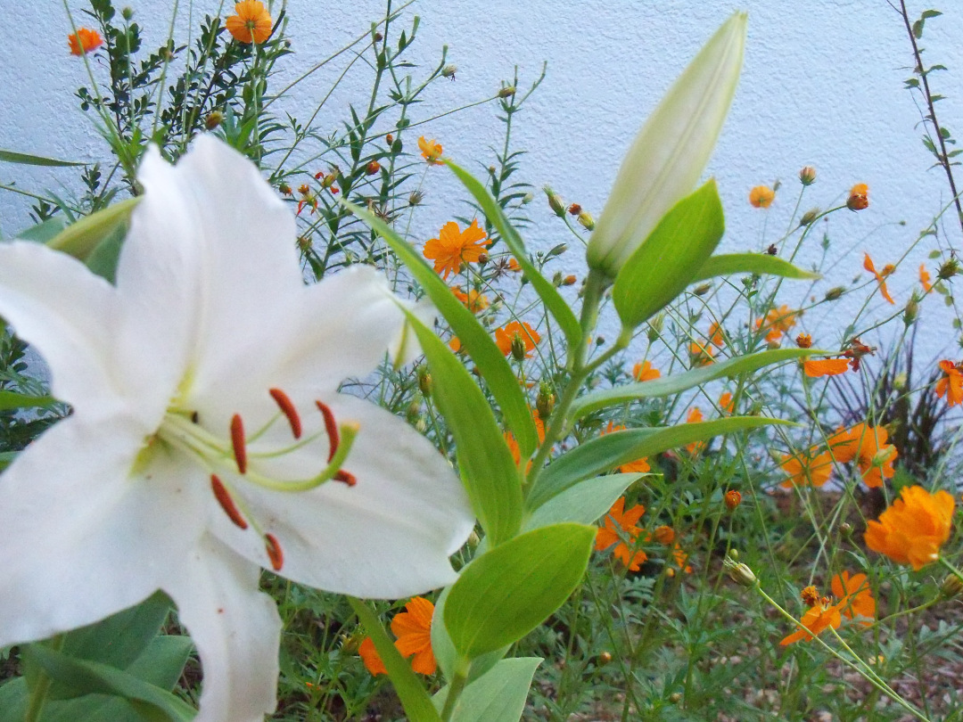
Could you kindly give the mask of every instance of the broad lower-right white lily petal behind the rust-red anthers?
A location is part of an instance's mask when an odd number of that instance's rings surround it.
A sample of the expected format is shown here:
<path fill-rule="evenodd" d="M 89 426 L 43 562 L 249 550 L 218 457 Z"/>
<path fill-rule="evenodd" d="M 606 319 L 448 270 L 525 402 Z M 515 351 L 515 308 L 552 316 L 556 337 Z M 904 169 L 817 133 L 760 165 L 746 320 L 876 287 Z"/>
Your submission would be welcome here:
<path fill-rule="evenodd" d="M 471 505 L 449 463 L 427 439 L 384 409 L 339 395 L 335 418 L 360 431 L 344 469 L 354 486 L 328 481 L 302 494 L 267 491 L 235 479 L 239 492 L 284 552 L 280 574 L 357 597 L 399 599 L 455 580 L 448 561 L 474 528 Z M 324 468 L 326 443 L 286 459 L 287 477 Z M 220 523 L 218 523 L 220 520 Z M 215 533 L 255 563 L 264 542 L 215 517 Z"/>

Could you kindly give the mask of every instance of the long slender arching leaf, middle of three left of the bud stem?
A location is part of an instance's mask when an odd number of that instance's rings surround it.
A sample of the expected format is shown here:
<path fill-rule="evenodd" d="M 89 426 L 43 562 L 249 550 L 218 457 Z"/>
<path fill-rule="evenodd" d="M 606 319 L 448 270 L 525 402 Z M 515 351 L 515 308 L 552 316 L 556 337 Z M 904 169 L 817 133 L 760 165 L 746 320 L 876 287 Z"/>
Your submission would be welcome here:
<path fill-rule="evenodd" d="M 399 236 L 387 223 L 377 216 L 345 202 L 345 207 L 355 216 L 364 220 L 379 235 L 384 242 L 391 246 L 403 264 L 425 289 L 425 293 L 435 307 L 452 326 L 455 335 L 461 341 L 463 348 L 475 361 L 488 388 L 498 401 L 505 417 L 505 423 L 515 435 L 522 458 L 532 455 L 538 445 L 538 436 L 532 421 L 532 411 L 528 401 L 518 385 L 518 379 L 511 371 L 508 361 L 491 336 L 484 329 L 475 315 L 455 298 L 452 290 L 441 277 L 435 273 L 421 254 L 412 245 Z"/>

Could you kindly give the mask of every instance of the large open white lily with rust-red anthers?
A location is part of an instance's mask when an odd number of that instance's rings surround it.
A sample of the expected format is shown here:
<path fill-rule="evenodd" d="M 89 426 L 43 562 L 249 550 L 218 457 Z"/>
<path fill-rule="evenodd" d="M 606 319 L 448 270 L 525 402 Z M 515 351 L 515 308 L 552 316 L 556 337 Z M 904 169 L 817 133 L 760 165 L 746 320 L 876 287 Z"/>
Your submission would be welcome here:
<path fill-rule="evenodd" d="M 160 588 L 200 653 L 199 722 L 275 706 L 280 619 L 260 567 L 400 598 L 455 580 L 473 519 L 447 461 L 337 393 L 402 327 L 376 271 L 302 282 L 294 218 L 212 137 L 143 160 L 112 286 L 43 245 L 0 245 L 0 315 L 72 414 L 0 476 L 0 647 Z"/>

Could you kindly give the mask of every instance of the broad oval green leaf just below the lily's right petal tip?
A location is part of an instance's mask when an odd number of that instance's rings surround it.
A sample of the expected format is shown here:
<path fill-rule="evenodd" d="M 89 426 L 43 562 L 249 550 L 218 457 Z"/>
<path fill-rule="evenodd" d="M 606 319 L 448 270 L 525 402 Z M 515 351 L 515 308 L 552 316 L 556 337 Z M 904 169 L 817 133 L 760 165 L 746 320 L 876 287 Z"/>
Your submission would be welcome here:
<path fill-rule="evenodd" d="M 516 536 L 461 570 L 445 626 L 464 658 L 518 641 L 572 593 L 586 571 L 595 529 L 557 524 Z"/>

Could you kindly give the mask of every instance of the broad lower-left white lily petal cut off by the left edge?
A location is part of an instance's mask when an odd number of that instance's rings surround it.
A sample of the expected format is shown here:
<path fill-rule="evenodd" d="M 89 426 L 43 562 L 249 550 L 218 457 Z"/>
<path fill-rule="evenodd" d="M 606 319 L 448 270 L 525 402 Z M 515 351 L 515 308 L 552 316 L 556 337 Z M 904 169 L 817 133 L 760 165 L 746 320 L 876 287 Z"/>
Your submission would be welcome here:
<path fill-rule="evenodd" d="M 168 478 L 117 473 L 140 443 L 127 420 L 78 410 L 0 477 L 0 647 L 141 602 L 194 546 L 204 516 L 183 464 Z"/>

